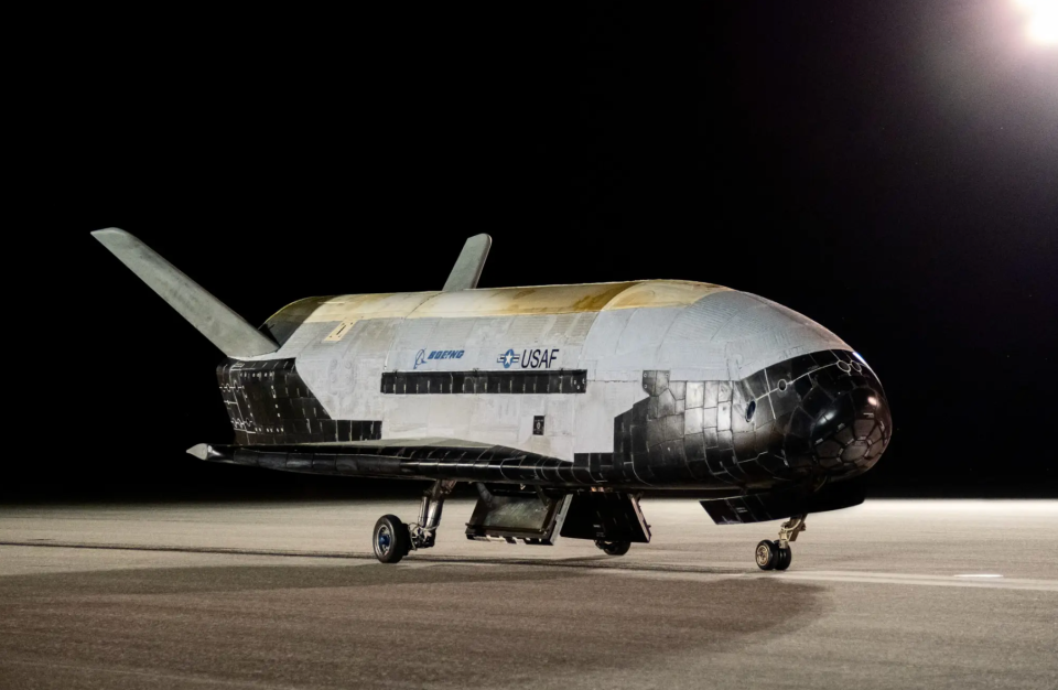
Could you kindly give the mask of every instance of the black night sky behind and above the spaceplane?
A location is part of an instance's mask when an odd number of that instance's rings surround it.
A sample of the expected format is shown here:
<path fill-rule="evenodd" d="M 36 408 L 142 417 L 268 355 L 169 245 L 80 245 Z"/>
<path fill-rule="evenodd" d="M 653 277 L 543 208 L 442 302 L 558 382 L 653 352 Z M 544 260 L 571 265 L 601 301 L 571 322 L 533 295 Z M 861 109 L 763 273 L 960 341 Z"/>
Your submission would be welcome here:
<path fill-rule="evenodd" d="M 88 235 L 118 226 L 253 323 L 440 289 L 483 231 L 482 287 L 760 294 L 878 373 L 876 495 L 1058 495 L 1058 46 L 1007 0 L 730 4 L 64 22 L 25 99 L 3 493 L 389 488 L 185 455 L 231 439 L 222 355 Z"/>

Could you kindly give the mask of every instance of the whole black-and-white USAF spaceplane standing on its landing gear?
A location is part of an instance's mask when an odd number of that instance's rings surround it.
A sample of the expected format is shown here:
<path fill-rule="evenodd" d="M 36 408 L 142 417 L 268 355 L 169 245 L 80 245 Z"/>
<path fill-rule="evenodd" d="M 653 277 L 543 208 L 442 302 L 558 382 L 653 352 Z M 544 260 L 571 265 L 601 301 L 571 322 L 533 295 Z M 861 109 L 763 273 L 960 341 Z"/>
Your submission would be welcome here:
<path fill-rule="evenodd" d="M 147 245 L 93 234 L 227 357 L 235 442 L 188 452 L 333 476 L 432 482 L 418 519 L 379 518 L 378 560 L 434 545 L 458 482 L 466 536 L 648 542 L 644 492 L 701 499 L 717 524 L 785 519 L 757 545 L 790 565 L 809 513 L 863 500 L 893 433 L 866 362 L 759 297 L 678 280 L 477 288 L 466 240 L 438 292 L 307 298 L 255 328 Z"/>

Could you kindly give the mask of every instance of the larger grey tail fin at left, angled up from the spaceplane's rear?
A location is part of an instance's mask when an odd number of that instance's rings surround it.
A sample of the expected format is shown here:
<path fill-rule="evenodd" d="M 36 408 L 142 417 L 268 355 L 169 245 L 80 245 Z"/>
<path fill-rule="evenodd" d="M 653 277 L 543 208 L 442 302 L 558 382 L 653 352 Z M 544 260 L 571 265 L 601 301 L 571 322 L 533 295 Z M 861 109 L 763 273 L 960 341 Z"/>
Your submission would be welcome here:
<path fill-rule="evenodd" d="M 279 349 L 279 345 L 134 236 L 119 228 L 96 230 L 91 236 L 225 355 L 255 357 Z"/>

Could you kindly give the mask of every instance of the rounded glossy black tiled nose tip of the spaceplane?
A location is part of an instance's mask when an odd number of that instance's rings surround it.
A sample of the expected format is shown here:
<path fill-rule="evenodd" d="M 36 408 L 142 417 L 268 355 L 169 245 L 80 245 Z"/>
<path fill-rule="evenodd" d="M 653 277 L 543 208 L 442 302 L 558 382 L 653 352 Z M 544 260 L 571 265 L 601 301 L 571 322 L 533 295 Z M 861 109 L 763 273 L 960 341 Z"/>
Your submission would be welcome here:
<path fill-rule="evenodd" d="M 790 418 L 787 456 L 834 477 L 866 472 L 893 434 L 882 384 L 849 352 L 814 353 L 811 363 L 801 359 L 790 363 L 800 403 Z"/>

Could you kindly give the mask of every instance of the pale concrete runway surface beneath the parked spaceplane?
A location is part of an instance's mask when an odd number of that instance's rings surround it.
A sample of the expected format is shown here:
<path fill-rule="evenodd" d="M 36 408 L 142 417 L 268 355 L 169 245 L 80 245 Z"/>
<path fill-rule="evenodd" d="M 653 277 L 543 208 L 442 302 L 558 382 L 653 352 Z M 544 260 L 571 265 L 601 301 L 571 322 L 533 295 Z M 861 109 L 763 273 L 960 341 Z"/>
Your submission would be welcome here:
<path fill-rule="evenodd" d="M 778 522 L 645 500 L 622 558 L 463 537 L 369 556 L 413 502 L 0 506 L 0 688 L 1058 688 L 1058 502 Z"/>

